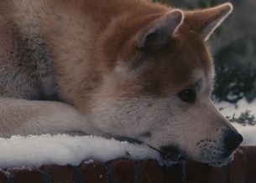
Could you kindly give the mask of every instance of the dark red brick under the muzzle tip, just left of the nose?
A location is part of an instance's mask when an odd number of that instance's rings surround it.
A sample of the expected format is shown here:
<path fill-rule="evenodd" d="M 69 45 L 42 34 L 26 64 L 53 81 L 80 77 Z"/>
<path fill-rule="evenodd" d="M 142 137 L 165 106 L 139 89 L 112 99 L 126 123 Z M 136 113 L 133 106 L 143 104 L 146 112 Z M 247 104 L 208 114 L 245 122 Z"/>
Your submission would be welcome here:
<path fill-rule="evenodd" d="M 222 167 L 209 166 L 208 183 L 226 183 L 228 175 L 227 165 Z"/>

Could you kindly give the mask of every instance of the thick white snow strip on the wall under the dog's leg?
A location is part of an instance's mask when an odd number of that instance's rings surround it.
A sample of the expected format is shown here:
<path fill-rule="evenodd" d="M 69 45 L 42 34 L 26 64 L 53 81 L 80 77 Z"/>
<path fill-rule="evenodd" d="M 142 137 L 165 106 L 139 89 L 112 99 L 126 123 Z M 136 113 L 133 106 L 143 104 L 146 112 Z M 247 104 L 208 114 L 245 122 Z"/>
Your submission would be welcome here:
<path fill-rule="evenodd" d="M 106 140 L 96 136 L 29 135 L 0 138 L 0 168 L 40 165 L 79 165 L 83 160 L 106 162 L 118 158 L 160 160 L 146 145 Z"/>

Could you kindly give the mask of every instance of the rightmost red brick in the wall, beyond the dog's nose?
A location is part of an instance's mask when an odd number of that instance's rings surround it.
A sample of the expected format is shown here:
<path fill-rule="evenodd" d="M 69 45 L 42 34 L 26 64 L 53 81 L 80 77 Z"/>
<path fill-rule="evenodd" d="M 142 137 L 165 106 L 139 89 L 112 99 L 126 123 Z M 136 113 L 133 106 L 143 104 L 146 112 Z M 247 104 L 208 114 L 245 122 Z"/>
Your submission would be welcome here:
<path fill-rule="evenodd" d="M 242 150 L 247 157 L 248 183 L 255 183 L 256 182 L 256 147 L 254 146 L 243 147 Z"/>

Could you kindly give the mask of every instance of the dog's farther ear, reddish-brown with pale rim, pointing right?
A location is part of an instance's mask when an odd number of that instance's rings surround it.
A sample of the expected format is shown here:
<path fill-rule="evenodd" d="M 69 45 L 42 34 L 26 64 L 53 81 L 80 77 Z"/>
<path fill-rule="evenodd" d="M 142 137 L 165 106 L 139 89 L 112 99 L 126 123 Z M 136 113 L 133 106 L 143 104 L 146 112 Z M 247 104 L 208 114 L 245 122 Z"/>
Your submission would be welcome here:
<path fill-rule="evenodd" d="M 230 13 L 232 4 L 224 3 L 214 8 L 186 12 L 185 23 L 207 41 Z"/>

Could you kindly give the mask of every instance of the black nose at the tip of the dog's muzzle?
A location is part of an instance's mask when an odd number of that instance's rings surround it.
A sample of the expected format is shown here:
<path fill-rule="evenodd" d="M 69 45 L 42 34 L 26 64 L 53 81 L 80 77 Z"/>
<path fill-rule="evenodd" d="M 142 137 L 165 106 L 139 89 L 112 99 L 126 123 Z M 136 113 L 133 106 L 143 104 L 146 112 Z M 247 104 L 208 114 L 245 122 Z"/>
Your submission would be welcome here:
<path fill-rule="evenodd" d="M 224 135 L 224 144 L 226 146 L 226 153 L 231 154 L 233 150 L 238 148 L 243 141 L 243 136 L 234 130 L 226 131 Z"/>

